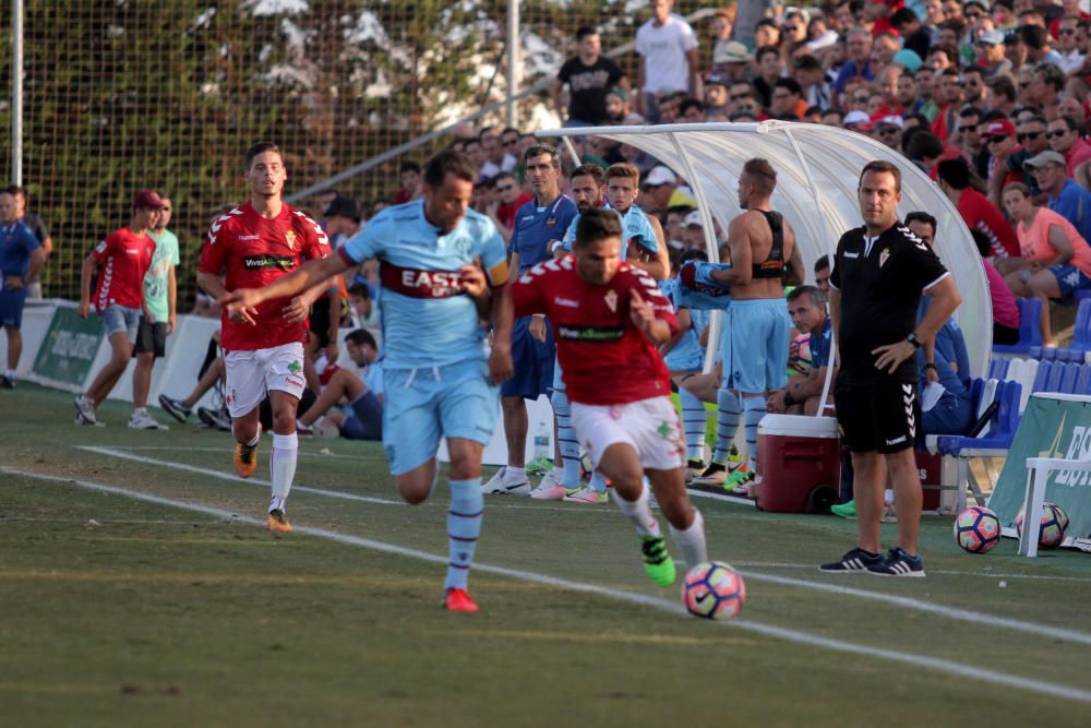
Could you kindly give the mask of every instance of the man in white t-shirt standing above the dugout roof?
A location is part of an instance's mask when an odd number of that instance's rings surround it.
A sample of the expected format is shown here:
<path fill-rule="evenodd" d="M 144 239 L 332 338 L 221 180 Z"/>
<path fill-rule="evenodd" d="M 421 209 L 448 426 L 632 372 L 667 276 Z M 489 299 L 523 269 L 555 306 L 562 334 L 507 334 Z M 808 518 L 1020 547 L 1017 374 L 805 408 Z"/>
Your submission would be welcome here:
<path fill-rule="evenodd" d="M 697 35 L 681 15 L 671 12 L 673 7 L 674 0 L 650 0 L 651 20 L 636 32 L 636 52 L 642 58 L 634 106 L 652 123 L 659 122 L 657 93 L 699 92 Z"/>

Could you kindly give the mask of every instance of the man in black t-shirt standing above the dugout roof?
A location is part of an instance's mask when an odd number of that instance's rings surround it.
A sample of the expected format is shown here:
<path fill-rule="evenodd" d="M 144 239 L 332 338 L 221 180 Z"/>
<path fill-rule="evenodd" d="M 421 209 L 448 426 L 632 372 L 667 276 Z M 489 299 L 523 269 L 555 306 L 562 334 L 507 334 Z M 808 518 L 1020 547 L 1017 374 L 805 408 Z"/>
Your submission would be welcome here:
<path fill-rule="evenodd" d="M 565 127 L 598 127 L 606 123 L 607 91 L 628 88 L 628 79 L 612 60 L 602 56 L 598 28 L 584 25 L 576 31 L 577 55 L 566 60 L 550 89 L 558 117 Z M 568 86 L 568 108 L 565 118 L 561 94 Z"/>

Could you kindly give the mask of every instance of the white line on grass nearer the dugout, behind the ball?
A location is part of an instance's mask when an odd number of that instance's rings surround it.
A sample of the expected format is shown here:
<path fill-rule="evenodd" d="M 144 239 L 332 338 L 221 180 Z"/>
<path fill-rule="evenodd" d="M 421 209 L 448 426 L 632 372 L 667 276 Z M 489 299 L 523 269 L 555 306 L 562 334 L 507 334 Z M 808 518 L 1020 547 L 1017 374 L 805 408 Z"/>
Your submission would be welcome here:
<path fill-rule="evenodd" d="M 255 478 L 240 478 L 236 475 L 229 475 L 226 473 L 219 473 L 218 470 L 211 470 L 207 468 L 197 467 L 195 465 L 187 465 L 184 463 L 171 463 L 165 461 L 157 461 L 151 457 L 143 457 L 141 455 L 133 455 L 131 453 L 124 453 L 112 447 L 99 447 L 92 445 L 82 445 L 82 450 L 87 450 L 89 452 L 99 453 L 101 455 L 110 455 L 113 457 L 121 457 L 124 460 L 136 461 L 139 463 L 148 463 L 152 465 L 160 465 L 166 467 L 173 467 L 181 470 L 188 470 L 192 473 L 201 473 L 209 475 L 213 477 L 221 478 L 224 480 L 237 481 L 237 482 L 250 482 L 255 485 L 268 486 L 268 481 L 257 480 Z M 316 496 L 328 496 L 331 498 L 340 498 L 345 500 L 356 500 L 363 501 L 368 503 L 379 503 L 382 505 L 403 505 L 401 501 L 391 501 L 381 498 L 370 498 L 367 496 L 356 496 L 352 493 L 345 493 L 337 490 L 325 490 L 322 488 L 310 488 L 307 486 L 295 486 L 295 490 L 302 492 L 310 492 Z M 490 505 L 490 508 L 497 508 L 495 505 Z M 540 508 L 540 506 L 527 506 L 527 505 L 504 505 L 499 508 Z M 548 506 L 546 506 L 548 508 Z M 544 510 L 541 508 L 540 510 Z M 560 510 L 560 509 L 558 509 Z M 563 509 L 570 512 L 577 512 L 576 509 Z M 1044 624 L 1038 624 L 1035 622 L 1027 622 L 1022 620 L 1011 619 L 1008 617 L 996 617 L 994 614 L 988 614 L 985 612 L 973 611 L 970 609 L 961 609 L 959 607 L 951 607 L 947 605 L 935 604 L 931 601 L 924 601 L 921 599 L 911 599 L 909 597 L 900 597 L 896 595 L 885 594 L 882 592 L 874 592 L 871 589 L 858 589 L 842 584 L 831 584 L 828 582 L 818 582 L 810 578 L 792 578 L 790 576 L 777 576 L 774 574 L 763 574 L 754 571 L 741 571 L 746 578 L 754 581 L 765 581 L 772 584 L 780 584 L 783 586 L 793 586 L 803 589 L 812 589 L 815 592 L 826 592 L 830 594 L 840 594 L 842 596 L 855 597 L 858 599 L 867 599 L 871 601 L 880 601 L 885 604 L 895 605 L 897 607 L 902 607 L 907 609 L 914 609 L 916 611 L 922 611 L 926 613 L 939 614 L 948 619 L 958 620 L 962 622 L 970 622 L 971 624 L 985 624 L 990 626 L 999 626 L 1017 632 L 1026 632 L 1028 634 L 1038 634 L 1045 637 L 1065 640 L 1068 642 L 1077 642 L 1086 645 L 1091 645 L 1091 634 L 1086 632 L 1077 632 L 1075 630 L 1066 630 L 1063 628 L 1047 626 Z M 844 580 L 844 578 L 878 578 L 872 577 L 870 575 L 835 575 L 826 576 L 828 580 Z"/>

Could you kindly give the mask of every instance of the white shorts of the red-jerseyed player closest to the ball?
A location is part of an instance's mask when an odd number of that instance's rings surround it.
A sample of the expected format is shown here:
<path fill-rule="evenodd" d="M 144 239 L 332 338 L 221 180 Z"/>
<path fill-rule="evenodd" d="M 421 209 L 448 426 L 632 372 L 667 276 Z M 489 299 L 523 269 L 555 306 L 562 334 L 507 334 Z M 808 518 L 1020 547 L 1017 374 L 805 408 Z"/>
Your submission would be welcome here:
<path fill-rule="evenodd" d="M 607 447 L 627 442 L 640 456 L 640 465 L 652 470 L 682 467 L 685 437 L 670 397 L 651 397 L 625 405 L 572 403 L 572 428 L 576 439 L 598 467 Z"/>

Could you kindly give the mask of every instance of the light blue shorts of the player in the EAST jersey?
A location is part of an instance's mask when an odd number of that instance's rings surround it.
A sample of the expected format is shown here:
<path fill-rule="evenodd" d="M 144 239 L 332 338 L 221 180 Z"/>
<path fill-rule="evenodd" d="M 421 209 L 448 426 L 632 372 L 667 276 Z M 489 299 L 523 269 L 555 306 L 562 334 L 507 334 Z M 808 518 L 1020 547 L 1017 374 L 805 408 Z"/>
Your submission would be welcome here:
<path fill-rule="evenodd" d="M 440 438 L 489 444 L 500 402 L 489 365 L 463 361 L 436 369 L 383 369 L 383 449 L 391 474 L 435 457 Z"/>

